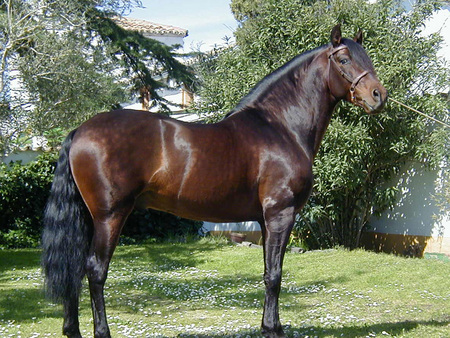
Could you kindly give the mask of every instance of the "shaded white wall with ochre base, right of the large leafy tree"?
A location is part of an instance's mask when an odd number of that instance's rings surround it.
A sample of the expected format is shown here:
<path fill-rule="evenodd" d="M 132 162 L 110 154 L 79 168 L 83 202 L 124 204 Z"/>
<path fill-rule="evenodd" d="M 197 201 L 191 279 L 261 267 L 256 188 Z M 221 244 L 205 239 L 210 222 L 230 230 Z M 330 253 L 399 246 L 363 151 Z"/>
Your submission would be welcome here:
<path fill-rule="evenodd" d="M 447 169 L 442 169 L 447 170 Z M 361 239 L 367 249 L 422 256 L 424 252 L 450 255 L 450 210 L 442 211 L 433 199 L 439 171 L 409 164 L 395 180 L 399 198 L 393 210 L 373 219 Z"/>

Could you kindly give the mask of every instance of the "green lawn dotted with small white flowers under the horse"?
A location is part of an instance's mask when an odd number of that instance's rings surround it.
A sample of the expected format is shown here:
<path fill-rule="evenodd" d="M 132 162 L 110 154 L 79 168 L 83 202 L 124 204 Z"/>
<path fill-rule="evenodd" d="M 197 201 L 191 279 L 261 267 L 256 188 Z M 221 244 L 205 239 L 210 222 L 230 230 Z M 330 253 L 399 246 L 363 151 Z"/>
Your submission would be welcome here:
<path fill-rule="evenodd" d="M 60 337 L 38 250 L 0 251 L 0 337 Z M 199 241 L 119 247 L 105 289 L 113 337 L 259 337 L 260 249 Z M 450 262 L 343 249 L 287 253 L 289 337 L 450 337 Z M 92 337 L 87 288 L 81 330 Z"/>

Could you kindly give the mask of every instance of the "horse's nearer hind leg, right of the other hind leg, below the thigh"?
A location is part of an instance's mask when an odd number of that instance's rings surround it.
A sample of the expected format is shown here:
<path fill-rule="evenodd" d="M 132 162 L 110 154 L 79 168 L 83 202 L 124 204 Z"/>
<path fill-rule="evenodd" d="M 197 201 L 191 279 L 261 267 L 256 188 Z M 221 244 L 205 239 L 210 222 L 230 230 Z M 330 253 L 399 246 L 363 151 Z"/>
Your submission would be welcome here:
<path fill-rule="evenodd" d="M 94 317 L 94 337 L 111 337 L 106 319 L 104 286 L 109 262 L 117 246 L 120 232 L 132 207 L 122 208 L 108 216 L 94 218 L 94 236 L 87 260 L 87 277 Z"/>

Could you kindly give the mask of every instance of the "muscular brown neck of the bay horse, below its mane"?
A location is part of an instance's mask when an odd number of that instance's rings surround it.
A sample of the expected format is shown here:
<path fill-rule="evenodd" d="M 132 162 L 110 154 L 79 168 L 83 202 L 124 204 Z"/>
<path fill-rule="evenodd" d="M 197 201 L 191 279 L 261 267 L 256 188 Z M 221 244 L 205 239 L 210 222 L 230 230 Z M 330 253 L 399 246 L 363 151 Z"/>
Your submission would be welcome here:
<path fill-rule="evenodd" d="M 290 135 L 309 158 L 314 158 L 338 100 L 328 89 L 324 53 L 288 74 L 259 100 L 258 111 L 285 135 Z"/>

